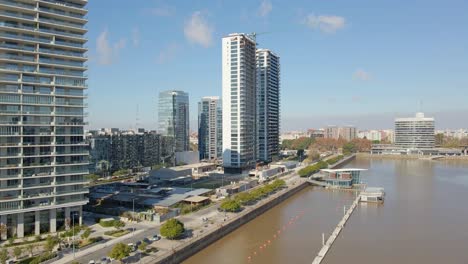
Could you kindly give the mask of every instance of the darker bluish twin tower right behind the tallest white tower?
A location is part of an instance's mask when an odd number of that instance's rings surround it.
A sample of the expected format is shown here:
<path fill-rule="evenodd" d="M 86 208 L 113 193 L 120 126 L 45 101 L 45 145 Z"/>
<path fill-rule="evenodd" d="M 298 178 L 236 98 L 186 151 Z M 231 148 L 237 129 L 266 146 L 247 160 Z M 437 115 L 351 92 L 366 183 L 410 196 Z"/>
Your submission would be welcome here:
<path fill-rule="evenodd" d="M 257 159 L 271 162 L 279 154 L 280 62 L 268 49 L 258 49 Z"/>

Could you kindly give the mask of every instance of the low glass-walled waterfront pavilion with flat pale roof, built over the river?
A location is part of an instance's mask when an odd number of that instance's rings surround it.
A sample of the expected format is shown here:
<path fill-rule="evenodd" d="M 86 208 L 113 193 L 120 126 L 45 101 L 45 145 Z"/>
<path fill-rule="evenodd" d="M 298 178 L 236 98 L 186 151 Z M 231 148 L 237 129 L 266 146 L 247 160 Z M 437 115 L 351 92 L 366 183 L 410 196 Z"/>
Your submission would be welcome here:
<path fill-rule="evenodd" d="M 351 188 L 354 184 L 361 183 L 360 173 L 366 169 L 323 169 L 320 170 L 322 174 L 325 174 L 323 180 L 338 188 Z"/>

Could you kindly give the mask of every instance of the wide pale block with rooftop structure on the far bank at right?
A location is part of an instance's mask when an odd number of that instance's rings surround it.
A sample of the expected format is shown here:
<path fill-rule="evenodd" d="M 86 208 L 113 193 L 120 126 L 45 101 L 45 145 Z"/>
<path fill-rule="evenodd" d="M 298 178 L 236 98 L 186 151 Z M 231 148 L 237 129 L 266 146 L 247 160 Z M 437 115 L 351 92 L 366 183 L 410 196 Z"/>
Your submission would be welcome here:
<path fill-rule="evenodd" d="M 416 113 L 415 117 L 395 119 L 395 146 L 427 149 L 435 145 L 434 118 Z"/>

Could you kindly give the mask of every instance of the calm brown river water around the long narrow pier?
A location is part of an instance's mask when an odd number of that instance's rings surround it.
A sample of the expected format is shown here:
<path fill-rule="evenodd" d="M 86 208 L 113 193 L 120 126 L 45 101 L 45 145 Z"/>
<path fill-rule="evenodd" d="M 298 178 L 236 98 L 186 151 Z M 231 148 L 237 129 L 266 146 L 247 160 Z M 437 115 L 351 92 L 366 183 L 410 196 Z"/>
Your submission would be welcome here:
<path fill-rule="evenodd" d="M 323 263 L 468 263 L 468 163 L 357 158 L 383 205 L 360 204 Z M 309 187 L 184 263 L 311 263 L 352 192 Z M 280 233 L 278 234 L 278 231 Z"/>

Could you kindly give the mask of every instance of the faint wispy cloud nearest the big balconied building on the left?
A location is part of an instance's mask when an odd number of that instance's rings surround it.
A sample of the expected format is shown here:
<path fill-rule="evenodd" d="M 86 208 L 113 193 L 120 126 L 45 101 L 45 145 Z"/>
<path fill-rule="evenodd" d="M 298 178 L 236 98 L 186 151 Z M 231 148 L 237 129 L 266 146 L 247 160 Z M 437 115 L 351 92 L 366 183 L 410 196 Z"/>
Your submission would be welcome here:
<path fill-rule="evenodd" d="M 123 38 L 115 43 L 109 43 L 108 35 L 109 32 L 106 29 L 99 34 L 96 41 L 98 62 L 103 65 L 112 64 L 117 59 L 120 50 L 126 46 L 126 40 Z"/>

